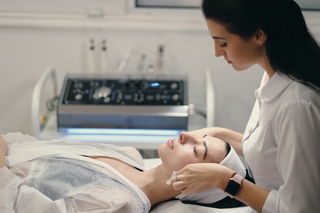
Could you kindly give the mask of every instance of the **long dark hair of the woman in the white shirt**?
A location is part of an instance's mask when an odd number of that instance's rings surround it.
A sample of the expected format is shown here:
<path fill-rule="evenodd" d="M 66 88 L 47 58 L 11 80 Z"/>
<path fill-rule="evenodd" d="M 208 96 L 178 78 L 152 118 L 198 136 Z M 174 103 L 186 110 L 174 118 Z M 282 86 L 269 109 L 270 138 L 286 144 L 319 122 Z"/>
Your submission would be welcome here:
<path fill-rule="evenodd" d="M 243 39 L 263 30 L 271 67 L 320 92 L 320 47 L 293 0 L 203 0 L 202 12 Z"/>

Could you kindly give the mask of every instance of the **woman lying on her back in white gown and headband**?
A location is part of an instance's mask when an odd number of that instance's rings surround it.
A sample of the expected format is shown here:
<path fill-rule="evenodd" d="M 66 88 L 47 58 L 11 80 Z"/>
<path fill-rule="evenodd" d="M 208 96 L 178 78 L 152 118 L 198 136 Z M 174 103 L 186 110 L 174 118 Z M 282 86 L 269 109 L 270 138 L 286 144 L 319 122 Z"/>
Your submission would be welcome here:
<path fill-rule="evenodd" d="M 226 195 L 211 188 L 184 196 L 167 184 L 173 171 L 190 163 L 215 162 L 245 176 L 228 144 L 187 132 L 160 145 L 162 163 L 147 171 L 138 150 L 104 143 L 39 141 L 8 133 L 0 135 L 0 153 L 0 212 L 147 213 L 152 205 L 171 198 L 212 204 Z"/>

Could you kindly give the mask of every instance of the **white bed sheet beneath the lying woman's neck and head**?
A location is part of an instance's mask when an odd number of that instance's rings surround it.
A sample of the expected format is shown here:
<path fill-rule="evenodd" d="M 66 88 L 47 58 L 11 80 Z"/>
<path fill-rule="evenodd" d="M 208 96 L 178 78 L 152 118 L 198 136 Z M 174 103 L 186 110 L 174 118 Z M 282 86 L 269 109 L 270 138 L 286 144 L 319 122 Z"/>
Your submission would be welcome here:
<path fill-rule="evenodd" d="M 146 169 L 151 169 L 161 164 L 160 158 L 144 159 Z M 150 213 L 257 213 L 254 209 L 244 206 L 236 208 L 212 208 L 193 204 L 184 204 L 179 200 L 173 200 L 158 204 Z"/>

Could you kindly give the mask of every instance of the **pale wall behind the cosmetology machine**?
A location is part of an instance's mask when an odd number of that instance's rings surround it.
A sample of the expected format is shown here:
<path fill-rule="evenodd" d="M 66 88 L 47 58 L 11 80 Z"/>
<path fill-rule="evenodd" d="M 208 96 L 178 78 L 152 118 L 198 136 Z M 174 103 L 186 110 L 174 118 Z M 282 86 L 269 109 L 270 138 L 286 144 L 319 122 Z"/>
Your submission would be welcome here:
<path fill-rule="evenodd" d="M 319 13 L 308 18 L 317 38 L 320 37 Z M 44 69 L 48 65 L 57 69 L 60 89 L 67 72 L 86 72 L 87 48 L 93 37 L 98 42 L 107 39 L 110 72 L 115 72 L 120 60 L 134 46 L 156 51 L 159 44 L 164 44 L 165 66 L 170 73 L 188 75 L 189 103 L 202 110 L 205 110 L 204 71 L 210 68 L 217 92 L 215 124 L 242 132 L 263 70 L 255 66 L 236 72 L 223 58 L 214 56 L 213 41 L 204 21 L 188 21 L 172 23 L 124 17 L 101 23 L 101 20 L 39 21 L 0 16 L 0 133 L 31 134 L 32 92 Z M 45 89 L 42 99 L 45 101 L 51 95 Z M 203 123 L 201 119 L 191 121 Z"/>

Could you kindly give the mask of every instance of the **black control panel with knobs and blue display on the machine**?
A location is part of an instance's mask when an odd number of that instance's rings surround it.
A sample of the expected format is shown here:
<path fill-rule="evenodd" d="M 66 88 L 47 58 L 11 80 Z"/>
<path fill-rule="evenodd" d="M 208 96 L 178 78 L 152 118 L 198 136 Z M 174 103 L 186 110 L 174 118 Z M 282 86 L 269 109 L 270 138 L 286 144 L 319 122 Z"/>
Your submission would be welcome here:
<path fill-rule="evenodd" d="M 65 105 L 187 105 L 184 80 L 68 78 Z"/>

